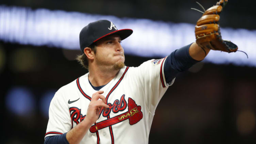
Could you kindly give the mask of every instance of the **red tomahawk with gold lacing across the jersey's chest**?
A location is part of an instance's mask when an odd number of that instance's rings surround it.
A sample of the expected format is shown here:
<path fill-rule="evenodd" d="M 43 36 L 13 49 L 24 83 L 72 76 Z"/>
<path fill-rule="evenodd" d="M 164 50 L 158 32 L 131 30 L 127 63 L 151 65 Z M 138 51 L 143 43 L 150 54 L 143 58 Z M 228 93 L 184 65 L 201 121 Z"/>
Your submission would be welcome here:
<path fill-rule="evenodd" d="M 104 121 L 96 123 L 96 125 L 93 125 L 90 128 L 90 131 L 92 133 L 96 132 L 97 130 L 100 130 L 102 128 L 106 128 L 108 126 L 114 125 L 116 123 L 122 122 L 126 119 L 129 119 L 130 125 L 138 123 L 143 117 L 143 114 L 141 112 L 141 106 L 137 106 L 135 101 L 131 98 L 128 98 L 128 111 L 117 115 L 115 117 L 112 117 L 110 119 L 106 119 Z"/>

